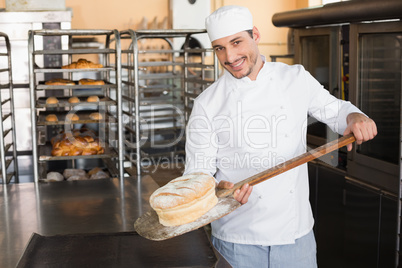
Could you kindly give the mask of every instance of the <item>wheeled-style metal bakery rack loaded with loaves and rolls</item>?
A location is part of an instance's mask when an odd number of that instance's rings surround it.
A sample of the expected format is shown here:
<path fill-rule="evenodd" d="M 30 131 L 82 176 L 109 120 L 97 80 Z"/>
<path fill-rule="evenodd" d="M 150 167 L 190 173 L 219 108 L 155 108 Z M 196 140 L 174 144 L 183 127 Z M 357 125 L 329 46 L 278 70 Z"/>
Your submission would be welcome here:
<path fill-rule="evenodd" d="M 47 45 L 52 38 L 62 45 Z M 96 40 L 98 46 L 77 46 L 76 40 Z M 59 166 L 89 168 L 94 162 L 101 163 L 111 176 L 123 177 L 123 148 L 121 118 L 121 48 L 120 35 L 116 30 L 32 30 L 29 32 L 29 73 L 31 97 L 31 123 L 34 179 L 46 178 L 48 170 Z M 64 44 L 64 45 L 63 45 Z M 49 48 L 50 47 L 50 48 Z M 45 57 L 53 64 L 45 66 Z M 59 60 L 54 60 L 54 59 Z M 78 59 L 88 59 L 102 64 L 100 68 L 62 68 Z M 95 66 L 99 67 L 99 66 Z M 53 78 L 69 79 L 73 85 L 47 85 Z M 81 79 L 104 81 L 104 85 L 80 85 Z M 49 104 L 47 98 L 56 97 L 58 103 Z M 79 103 L 70 103 L 75 96 Z M 89 96 L 97 96 L 98 102 L 89 102 Z M 100 119 L 91 117 L 99 113 Z M 49 122 L 46 116 L 54 114 L 57 120 Z M 78 115 L 69 120 L 67 114 Z M 60 131 L 71 133 L 74 129 L 94 130 L 104 149 L 95 155 L 52 155 L 51 139 Z M 64 166 L 63 166 L 64 165 Z"/>

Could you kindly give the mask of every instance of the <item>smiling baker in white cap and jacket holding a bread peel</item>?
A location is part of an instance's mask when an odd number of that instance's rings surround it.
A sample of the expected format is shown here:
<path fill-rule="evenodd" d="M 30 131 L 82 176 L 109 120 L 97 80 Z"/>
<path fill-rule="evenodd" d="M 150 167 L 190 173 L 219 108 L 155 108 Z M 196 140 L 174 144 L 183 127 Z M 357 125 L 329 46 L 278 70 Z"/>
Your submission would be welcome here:
<path fill-rule="evenodd" d="M 267 62 L 245 7 L 206 18 L 223 75 L 194 101 L 185 174 L 213 175 L 218 187 L 306 152 L 307 116 L 356 143 L 377 134 L 373 120 L 329 94 L 301 65 Z M 348 145 L 348 150 L 352 146 Z M 233 267 L 316 267 L 307 164 L 234 193 L 243 205 L 212 222 L 215 248 Z"/>

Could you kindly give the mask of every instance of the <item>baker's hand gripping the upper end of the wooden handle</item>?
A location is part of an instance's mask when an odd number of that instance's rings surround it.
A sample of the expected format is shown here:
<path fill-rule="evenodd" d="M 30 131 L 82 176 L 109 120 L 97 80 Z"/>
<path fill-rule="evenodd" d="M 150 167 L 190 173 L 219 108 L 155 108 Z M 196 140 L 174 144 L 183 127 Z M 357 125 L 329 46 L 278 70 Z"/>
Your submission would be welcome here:
<path fill-rule="evenodd" d="M 343 135 L 353 133 L 358 145 L 373 139 L 377 135 L 375 122 L 364 114 L 351 113 L 347 116 L 346 122 L 348 125 Z M 347 149 L 348 151 L 352 150 L 352 144 L 348 144 Z"/>

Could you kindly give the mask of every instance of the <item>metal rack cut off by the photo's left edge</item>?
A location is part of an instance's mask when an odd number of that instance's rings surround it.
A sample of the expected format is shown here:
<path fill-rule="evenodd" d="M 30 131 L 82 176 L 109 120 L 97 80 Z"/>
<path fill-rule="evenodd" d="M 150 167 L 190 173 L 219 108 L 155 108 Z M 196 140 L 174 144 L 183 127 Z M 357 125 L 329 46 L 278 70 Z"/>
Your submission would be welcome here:
<path fill-rule="evenodd" d="M 0 157 L 1 181 L 18 182 L 18 163 L 15 135 L 13 79 L 11 69 L 10 40 L 0 32 Z"/>

